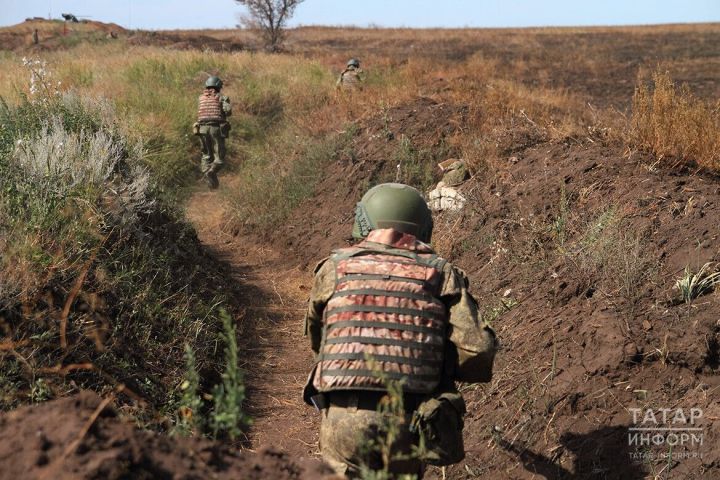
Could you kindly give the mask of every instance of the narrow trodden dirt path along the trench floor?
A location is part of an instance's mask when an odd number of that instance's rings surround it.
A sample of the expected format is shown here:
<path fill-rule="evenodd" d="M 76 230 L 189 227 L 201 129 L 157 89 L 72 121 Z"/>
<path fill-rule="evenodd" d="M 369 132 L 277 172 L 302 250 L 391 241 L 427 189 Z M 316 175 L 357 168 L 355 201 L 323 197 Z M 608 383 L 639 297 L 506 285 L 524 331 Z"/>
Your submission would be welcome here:
<path fill-rule="evenodd" d="M 302 318 L 311 278 L 279 252 L 252 238 L 222 231 L 224 207 L 216 192 L 198 191 L 186 207 L 202 243 L 228 264 L 242 292 L 238 318 L 246 371 L 252 449 L 272 445 L 292 455 L 316 455 L 318 416 L 301 400 L 312 363 Z M 290 268 L 289 268 L 290 267 Z"/>

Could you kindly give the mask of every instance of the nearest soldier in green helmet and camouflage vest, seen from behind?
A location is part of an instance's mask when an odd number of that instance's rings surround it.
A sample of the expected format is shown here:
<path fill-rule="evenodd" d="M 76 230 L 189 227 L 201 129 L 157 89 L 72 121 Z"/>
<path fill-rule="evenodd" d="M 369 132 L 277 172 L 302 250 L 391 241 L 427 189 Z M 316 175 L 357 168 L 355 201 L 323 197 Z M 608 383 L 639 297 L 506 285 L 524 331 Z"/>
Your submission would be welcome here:
<path fill-rule="evenodd" d="M 303 398 L 321 411 L 320 450 L 338 474 L 421 478 L 428 463 L 464 458 L 455 381 L 490 381 L 496 339 L 465 274 L 428 245 L 432 229 L 420 192 L 378 185 L 357 204 L 360 243 L 315 269 L 305 334 L 316 363 Z M 389 414 L 399 399 L 404 412 Z"/>

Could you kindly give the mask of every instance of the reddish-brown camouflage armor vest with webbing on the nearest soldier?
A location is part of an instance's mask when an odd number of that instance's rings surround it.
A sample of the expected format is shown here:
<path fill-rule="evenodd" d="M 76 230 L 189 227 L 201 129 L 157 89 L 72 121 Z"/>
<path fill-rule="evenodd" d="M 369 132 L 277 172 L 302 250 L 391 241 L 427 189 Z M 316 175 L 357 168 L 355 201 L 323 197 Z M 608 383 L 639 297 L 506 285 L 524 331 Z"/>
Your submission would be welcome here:
<path fill-rule="evenodd" d="M 324 311 L 318 391 L 385 391 L 380 375 L 403 381 L 405 393 L 435 391 L 448 323 L 438 298 L 446 262 L 426 248 L 365 241 L 330 257 L 337 280 Z"/>

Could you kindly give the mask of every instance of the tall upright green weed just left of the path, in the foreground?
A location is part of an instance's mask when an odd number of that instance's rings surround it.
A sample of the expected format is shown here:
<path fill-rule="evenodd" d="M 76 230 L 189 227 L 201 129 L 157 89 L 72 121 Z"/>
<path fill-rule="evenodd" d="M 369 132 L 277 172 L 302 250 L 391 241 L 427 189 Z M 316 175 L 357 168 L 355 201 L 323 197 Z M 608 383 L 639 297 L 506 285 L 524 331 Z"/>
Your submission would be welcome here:
<path fill-rule="evenodd" d="M 227 311 L 220 312 L 223 333 L 220 335 L 225 343 L 225 371 L 222 383 L 213 389 L 214 409 L 211 423 L 215 437 L 228 437 L 232 440 L 242 434 L 242 426 L 249 422 L 242 411 L 245 400 L 243 373 L 238 367 L 238 346 L 233 319 Z"/>

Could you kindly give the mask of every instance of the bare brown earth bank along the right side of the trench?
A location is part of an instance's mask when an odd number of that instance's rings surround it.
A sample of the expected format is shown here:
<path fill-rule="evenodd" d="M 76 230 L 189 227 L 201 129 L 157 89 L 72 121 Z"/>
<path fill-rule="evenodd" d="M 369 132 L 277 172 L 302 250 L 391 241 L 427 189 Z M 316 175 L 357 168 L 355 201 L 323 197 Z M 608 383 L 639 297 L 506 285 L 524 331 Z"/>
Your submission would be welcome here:
<path fill-rule="evenodd" d="M 344 245 L 354 202 L 392 173 L 399 139 L 438 149 L 463 112 L 419 98 L 361 120 L 354 155 L 275 245 L 305 268 Z M 674 284 L 686 266 L 720 261 L 718 179 L 658 169 L 602 138 L 550 143 L 529 130 L 503 150 L 460 188 L 467 207 L 435 219 L 435 247 L 466 270 L 502 343 L 493 382 L 463 387 L 467 458 L 445 475 L 713 478 L 720 297 L 684 304 Z M 702 409 L 703 444 L 675 447 L 669 463 L 667 446 L 630 446 L 633 408 Z"/>

